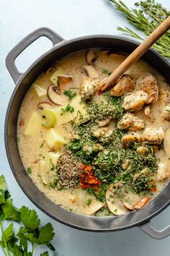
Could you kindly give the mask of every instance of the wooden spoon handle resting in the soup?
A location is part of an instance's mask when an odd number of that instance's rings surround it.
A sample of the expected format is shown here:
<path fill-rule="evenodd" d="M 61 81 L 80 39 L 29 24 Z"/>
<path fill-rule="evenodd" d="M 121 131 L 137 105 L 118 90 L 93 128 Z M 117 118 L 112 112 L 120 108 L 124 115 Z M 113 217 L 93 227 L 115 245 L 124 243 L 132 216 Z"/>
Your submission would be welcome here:
<path fill-rule="evenodd" d="M 153 43 L 158 40 L 158 38 L 161 38 L 164 33 L 166 33 L 167 30 L 170 28 L 170 16 L 159 25 L 156 30 L 151 33 L 151 35 L 146 38 L 146 40 L 143 41 L 143 43 L 140 43 L 140 46 L 135 48 L 135 51 L 132 52 L 128 56 L 128 58 L 125 59 L 125 61 L 120 64 L 117 69 L 115 69 L 112 74 L 109 75 L 109 77 L 102 80 L 102 82 L 99 85 L 99 92 L 102 92 L 109 88 L 110 85 L 114 85 L 117 80 L 122 77 L 122 74 L 124 74 L 128 68 L 135 63 L 135 61 L 138 61 L 138 59 L 143 56 L 143 54 L 148 51 L 148 49 L 153 45 Z"/>

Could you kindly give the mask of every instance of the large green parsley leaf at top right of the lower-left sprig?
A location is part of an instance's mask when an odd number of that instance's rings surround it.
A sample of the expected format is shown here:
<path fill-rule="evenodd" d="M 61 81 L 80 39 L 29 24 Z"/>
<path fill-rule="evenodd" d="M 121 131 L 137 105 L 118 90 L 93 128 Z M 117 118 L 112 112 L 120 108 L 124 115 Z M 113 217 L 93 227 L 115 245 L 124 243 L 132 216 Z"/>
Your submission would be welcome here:
<path fill-rule="evenodd" d="M 26 206 L 20 209 L 21 221 L 27 229 L 35 230 L 40 225 L 40 219 L 35 210 L 30 210 Z"/>

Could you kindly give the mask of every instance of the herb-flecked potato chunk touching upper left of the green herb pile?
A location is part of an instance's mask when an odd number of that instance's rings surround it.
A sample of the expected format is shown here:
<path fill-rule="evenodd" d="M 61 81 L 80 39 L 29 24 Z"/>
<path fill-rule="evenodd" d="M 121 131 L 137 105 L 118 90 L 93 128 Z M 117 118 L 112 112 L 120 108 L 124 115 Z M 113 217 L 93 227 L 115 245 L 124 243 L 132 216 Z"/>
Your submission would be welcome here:
<path fill-rule="evenodd" d="M 82 101 L 81 96 L 77 96 L 70 102 L 70 106 L 73 107 L 72 112 L 75 124 L 83 124 L 85 121 L 89 120 L 89 114 L 86 110 L 86 103 Z"/>

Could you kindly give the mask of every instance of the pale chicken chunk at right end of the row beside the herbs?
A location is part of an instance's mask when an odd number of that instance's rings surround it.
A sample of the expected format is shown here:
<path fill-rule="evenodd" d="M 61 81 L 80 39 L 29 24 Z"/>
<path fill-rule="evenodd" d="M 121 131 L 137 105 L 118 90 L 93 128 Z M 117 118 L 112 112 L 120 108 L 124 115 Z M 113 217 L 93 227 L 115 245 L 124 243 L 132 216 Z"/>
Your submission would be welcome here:
<path fill-rule="evenodd" d="M 161 144 L 162 140 L 164 140 L 165 133 L 162 127 L 147 127 L 143 132 L 143 141 L 148 141 L 153 144 Z"/>

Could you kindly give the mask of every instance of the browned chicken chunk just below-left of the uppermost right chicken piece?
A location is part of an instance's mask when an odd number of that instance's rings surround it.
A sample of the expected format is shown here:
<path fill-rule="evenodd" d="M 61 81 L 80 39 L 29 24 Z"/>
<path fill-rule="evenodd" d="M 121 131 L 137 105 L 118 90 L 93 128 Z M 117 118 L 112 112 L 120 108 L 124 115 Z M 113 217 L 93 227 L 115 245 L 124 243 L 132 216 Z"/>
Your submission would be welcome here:
<path fill-rule="evenodd" d="M 143 90 L 135 90 L 125 96 L 123 106 L 125 110 L 140 110 L 145 103 L 148 103 L 149 95 Z"/>

